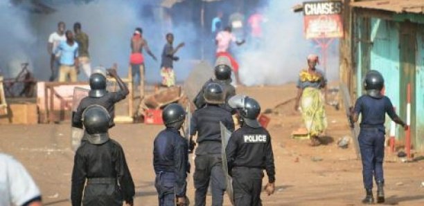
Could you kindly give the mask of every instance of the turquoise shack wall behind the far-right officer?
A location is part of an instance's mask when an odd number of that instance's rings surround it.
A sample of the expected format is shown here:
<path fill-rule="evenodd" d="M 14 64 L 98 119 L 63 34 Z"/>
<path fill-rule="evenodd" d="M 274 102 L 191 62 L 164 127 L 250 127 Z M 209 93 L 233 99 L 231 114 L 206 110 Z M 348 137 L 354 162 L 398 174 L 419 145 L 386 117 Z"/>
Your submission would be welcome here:
<path fill-rule="evenodd" d="M 357 96 L 363 94 L 366 71 L 380 71 L 385 77 L 386 95 L 406 121 L 406 88 L 410 83 L 412 143 L 414 149 L 424 151 L 424 24 L 357 16 L 353 30 Z M 389 124 L 386 126 L 389 129 Z M 404 137 L 403 129 L 397 127 L 396 138 Z"/>

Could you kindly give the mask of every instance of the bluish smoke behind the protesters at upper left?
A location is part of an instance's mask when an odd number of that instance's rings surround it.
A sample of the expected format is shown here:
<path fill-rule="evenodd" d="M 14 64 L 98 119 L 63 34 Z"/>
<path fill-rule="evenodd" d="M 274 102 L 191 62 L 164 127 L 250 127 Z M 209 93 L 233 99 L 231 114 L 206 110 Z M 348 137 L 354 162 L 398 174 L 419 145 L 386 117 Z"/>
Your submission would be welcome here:
<path fill-rule="evenodd" d="M 160 57 L 162 48 L 166 44 L 165 35 L 167 32 L 174 32 L 175 44 L 193 39 L 191 32 L 187 32 L 193 29 L 189 22 L 177 28 L 165 27 L 159 21 L 159 6 L 153 6 L 154 15 L 151 12 L 145 13 L 143 6 L 157 5 L 155 1 L 46 2 L 49 2 L 49 5 L 55 8 L 56 12 L 48 15 L 33 14 L 14 8 L 5 1 L 0 1 L 0 23 L 2 23 L 0 34 L 2 37 L 10 37 L 7 41 L 0 40 L 0 43 L 8 45 L 6 47 L 8 50 L 21 48 L 19 55 L 13 57 L 14 61 L 20 59 L 18 57 L 29 56 L 28 59 L 33 60 L 35 76 L 38 79 L 48 79 L 50 76 L 50 57 L 46 50 L 47 40 L 48 36 L 57 30 L 59 21 L 64 21 L 67 30 L 73 30 L 73 24 L 77 21 L 82 24 L 82 31 L 89 35 L 92 68 L 100 65 L 109 67 L 117 63 L 118 73 L 122 76 L 127 75 L 128 71 L 130 38 L 136 27 L 143 28 L 143 36 L 148 40 L 150 49 L 158 58 L 158 62 L 154 62 L 152 58 L 145 54 L 145 72 L 148 82 L 157 82 L 160 79 Z M 15 13 L 12 11 L 15 11 Z M 11 27 L 10 25 L 14 26 Z M 21 47 L 15 46 L 15 44 L 28 46 Z M 188 57 L 190 53 L 191 45 L 186 44 L 177 55 Z M 3 59 L 4 57 L 0 57 L 0 60 Z M 6 59 L 0 62 L 10 61 L 11 59 Z M 176 65 L 178 64 L 176 63 Z M 15 71 L 16 68 L 9 70 Z M 80 78 L 84 79 L 85 76 L 80 74 Z"/>

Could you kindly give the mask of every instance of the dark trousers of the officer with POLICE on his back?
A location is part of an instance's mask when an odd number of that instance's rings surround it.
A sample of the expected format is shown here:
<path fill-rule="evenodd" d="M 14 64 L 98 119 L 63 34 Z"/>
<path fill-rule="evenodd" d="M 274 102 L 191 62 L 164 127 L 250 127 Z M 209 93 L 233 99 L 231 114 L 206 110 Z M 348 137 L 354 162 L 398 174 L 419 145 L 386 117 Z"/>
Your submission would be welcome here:
<path fill-rule="evenodd" d="M 234 167 L 233 177 L 234 203 L 236 206 L 261 206 L 263 169 Z"/>

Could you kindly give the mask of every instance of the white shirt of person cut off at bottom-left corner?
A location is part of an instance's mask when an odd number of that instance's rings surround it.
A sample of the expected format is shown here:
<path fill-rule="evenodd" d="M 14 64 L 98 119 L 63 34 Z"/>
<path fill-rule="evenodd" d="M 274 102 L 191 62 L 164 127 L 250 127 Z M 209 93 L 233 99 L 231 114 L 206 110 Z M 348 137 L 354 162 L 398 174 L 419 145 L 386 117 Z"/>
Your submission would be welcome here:
<path fill-rule="evenodd" d="M 0 206 L 24 205 L 38 196 L 39 189 L 24 166 L 0 153 Z"/>

